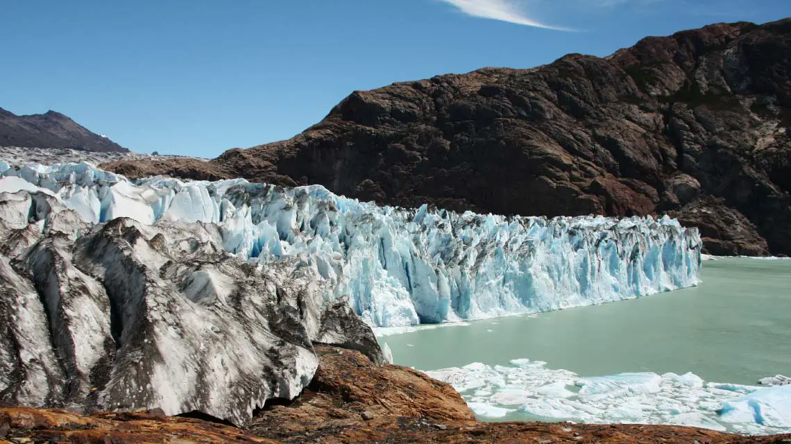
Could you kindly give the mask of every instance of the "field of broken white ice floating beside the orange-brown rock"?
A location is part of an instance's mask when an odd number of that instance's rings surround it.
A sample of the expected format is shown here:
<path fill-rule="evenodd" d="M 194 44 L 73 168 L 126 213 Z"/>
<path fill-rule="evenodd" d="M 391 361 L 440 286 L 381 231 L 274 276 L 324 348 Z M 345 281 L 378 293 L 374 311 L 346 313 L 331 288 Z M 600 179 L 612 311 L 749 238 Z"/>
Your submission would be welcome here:
<path fill-rule="evenodd" d="M 475 362 L 426 371 L 458 390 L 478 416 L 577 423 L 649 423 L 744 434 L 791 432 L 791 385 L 760 388 L 704 382 L 695 374 L 623 373 L 581 378 L 546 362 Z M 512 418 L 522 419 L 522 418 Z"/>

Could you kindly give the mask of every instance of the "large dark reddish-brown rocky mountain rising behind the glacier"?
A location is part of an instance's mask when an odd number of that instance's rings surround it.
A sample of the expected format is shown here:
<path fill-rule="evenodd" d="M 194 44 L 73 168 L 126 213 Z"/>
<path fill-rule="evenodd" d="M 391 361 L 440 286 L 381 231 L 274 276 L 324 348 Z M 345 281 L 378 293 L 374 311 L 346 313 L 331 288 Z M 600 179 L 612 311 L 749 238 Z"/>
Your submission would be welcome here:
<path fill-rule="evenodd" d="M 791 254 L 791 19 L 648 37 L 604 59 L 356 91 L 293 139 L 128 176 L 323 184 L 495 214 L 671 214 L 707 252 Z"/>

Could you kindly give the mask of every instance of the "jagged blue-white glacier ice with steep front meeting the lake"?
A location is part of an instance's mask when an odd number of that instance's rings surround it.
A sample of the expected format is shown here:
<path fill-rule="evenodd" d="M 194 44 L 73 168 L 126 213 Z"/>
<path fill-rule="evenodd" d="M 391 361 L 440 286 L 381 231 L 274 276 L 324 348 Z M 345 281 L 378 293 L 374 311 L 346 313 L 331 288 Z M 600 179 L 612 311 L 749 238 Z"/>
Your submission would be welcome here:
<path fill-rule="evenodd" d="M 0 192 L 42 192 L 91 224 L 214 224 L 254 264 L 303 261 L 377 327 L 437 324 L 637 298 L 698 284 L 697 229 L 675 219 L 505 217 L 380 207 L 312 185 L 127 180 L 89 163 L 9 165 Z"/>

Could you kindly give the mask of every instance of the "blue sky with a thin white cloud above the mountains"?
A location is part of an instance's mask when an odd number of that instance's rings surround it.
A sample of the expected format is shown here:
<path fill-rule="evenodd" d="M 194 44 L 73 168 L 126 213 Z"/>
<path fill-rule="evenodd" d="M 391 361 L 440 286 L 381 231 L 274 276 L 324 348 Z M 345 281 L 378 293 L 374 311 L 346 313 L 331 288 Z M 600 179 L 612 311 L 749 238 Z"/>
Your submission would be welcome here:
<path fill-rule="evenodd" d="M 0 108 L 139 152 L 288 139 L 354 89 L 608 55 L 791 0 L 0 0 Z M 562 29 L 562 30 L 558 30 Z"/>

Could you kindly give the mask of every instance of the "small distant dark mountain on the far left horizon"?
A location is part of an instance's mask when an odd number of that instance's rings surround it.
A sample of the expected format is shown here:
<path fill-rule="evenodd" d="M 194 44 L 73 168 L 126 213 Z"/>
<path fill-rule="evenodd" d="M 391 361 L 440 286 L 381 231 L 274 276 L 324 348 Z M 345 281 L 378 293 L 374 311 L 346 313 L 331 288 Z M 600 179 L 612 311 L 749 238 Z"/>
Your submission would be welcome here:
<path fill-rule="evenodd" d="M 0 108 L 0 146 L 128 152 L 59 112 L 17 116 Z"/>

